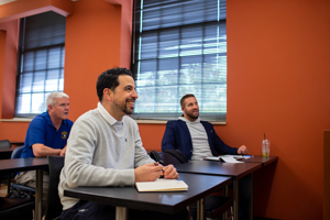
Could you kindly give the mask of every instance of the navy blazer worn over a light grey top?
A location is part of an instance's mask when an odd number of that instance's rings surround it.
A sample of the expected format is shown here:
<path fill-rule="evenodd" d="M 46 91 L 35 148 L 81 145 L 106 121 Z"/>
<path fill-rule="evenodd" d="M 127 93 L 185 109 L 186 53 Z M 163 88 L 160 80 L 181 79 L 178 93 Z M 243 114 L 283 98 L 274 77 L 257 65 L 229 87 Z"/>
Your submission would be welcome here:
<path fill-rule="evenodd" d="M 211 123 L 207 121 L 200 121 L 200 123 L 204 125 L 208 134 L 209 145 L 213 156 L 219 154 L 238 154 L 238 148 L 223 143 L 223 141 L 217 135 Z M 165 150 L 179 150 L 188 161 L 191 161 L 193 142 L 185 121 L 175 120 L 167 122 L 162 140 L 162 151 Z"/>

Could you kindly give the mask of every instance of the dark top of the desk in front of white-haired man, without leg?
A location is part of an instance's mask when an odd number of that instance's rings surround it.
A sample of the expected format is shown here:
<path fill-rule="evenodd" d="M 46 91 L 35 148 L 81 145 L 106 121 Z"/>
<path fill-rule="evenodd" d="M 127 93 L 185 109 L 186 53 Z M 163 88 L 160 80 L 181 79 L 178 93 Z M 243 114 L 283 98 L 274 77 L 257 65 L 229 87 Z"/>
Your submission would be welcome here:
<path fill-rule="evenodd" d="M 0 160 L 0 173 L 14 173 L 48 168 L 47 157 Z"/>

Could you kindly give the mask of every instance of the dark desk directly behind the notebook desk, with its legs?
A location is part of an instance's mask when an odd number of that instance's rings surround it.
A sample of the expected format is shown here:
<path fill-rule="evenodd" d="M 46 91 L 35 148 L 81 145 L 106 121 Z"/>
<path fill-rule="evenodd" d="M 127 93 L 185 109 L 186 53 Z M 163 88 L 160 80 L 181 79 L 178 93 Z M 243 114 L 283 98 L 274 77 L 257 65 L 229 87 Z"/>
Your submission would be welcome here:
<path fill-rule="evenodd" d="M 191 163 L 178 164 L 175 166 L 176 170 L 182 173 L 190 174 L 204 174 L 204 175 L 216 175 L 227 176 L 233 179 L 233 209 L 234 219 L 239 219 L 239 179 L 251 175 L 251 207 L 250 207 L 250 219 L 253 219 L 253 176 L 252 173 L 262 167 L 261 163 L 222 163 L 213 161 L 194 161 Z"/>

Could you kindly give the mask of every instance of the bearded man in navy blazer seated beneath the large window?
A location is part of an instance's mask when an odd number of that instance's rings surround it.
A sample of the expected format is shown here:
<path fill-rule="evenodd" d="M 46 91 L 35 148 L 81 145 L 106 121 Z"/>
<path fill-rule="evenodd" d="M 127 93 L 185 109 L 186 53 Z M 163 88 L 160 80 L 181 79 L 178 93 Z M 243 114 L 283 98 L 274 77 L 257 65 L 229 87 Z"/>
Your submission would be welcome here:
<path fill-rule="evenodd" d="M 222 154 L 248 154 L 246 146 L 234 148 L 227 145 L 217 135 L 211 123 L 200 121 L 199 106 L 194 95 L 184 96 L 180 105 L 184 116 L 167 122 L 162 151 L 179 150 L 187 161 Z"/>

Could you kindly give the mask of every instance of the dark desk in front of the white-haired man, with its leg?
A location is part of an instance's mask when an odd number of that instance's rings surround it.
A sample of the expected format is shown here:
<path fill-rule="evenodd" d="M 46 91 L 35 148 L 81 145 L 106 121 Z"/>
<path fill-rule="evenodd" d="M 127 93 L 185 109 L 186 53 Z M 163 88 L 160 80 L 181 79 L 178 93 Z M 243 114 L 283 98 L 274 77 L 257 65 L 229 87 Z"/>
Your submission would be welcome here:
<path fill-rule="evenodd" d="M 0 160 L 0 173 L 16 173 L 36 169 L 35 187 L 35 219 L 42 219 L 43 202 L 43 169 L 48 168 L 48 160 L 42 158 L 12 158 Z"/>

